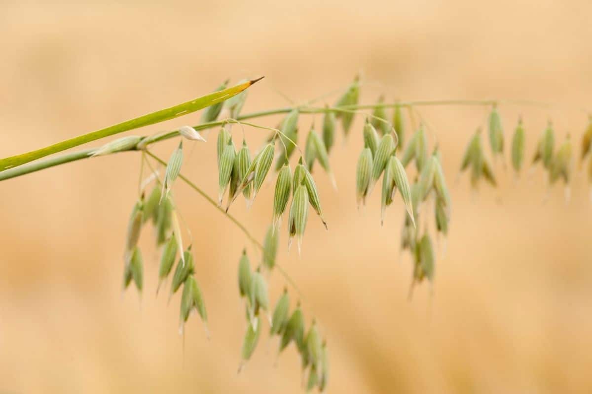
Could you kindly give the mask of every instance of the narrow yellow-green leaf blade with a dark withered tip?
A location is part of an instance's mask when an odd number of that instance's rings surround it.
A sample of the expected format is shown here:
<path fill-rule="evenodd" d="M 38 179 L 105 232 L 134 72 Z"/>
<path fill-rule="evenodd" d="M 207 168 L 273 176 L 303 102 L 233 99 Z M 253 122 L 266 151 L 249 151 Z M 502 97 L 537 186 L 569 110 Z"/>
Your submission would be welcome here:
<path fill-rule="evenodd" d="M 57 142 L 57 144 L 49 145 L 41 149 L 26 152 L 24 154 L 0 159 L 0 171 L 7 170 L 8 168 L 12 167 L 17 167 L 18 165 L 25 164 L 27 162 L 42 157 L 46 157 L 57 152 L 65 151 L 66 149 L 86 144 L 86 142 L 95 141 L 99 138 L 104 138 L 110 135 L 123 133 L 126 131 L 137 129 L 143 126 L 153 125 L 155 123 L 163 121 L 168 121 L 169 119 L 177 118 L 178 116 L 195 112 L 207 106 L 223 102 L 224 100 L 229 99 L 232 96 L 236 96 L 237 94 L 242 92 L 244 89 L 247 89 L 247 87 L 251 86 L 253 83 L 257 81 L 258 80 L 252 80 L 249 82 L 241 83 L 236 86 L 229 87 L 228 89 L 219 90 L 217 92 L 211 93 L 210 95 L 198 97 L 197 99 L 188 101 L 186 103 L 175 105 L 170 108 L 161 109 L 156 112 L 140 116 L 139 118 L 134 118 L 130 119 L 129 121 L 117 123 L 117 125 L 112 125 L 104 129 L 79 135 L 74 138 L 66 139 L 65 141 Z"/>

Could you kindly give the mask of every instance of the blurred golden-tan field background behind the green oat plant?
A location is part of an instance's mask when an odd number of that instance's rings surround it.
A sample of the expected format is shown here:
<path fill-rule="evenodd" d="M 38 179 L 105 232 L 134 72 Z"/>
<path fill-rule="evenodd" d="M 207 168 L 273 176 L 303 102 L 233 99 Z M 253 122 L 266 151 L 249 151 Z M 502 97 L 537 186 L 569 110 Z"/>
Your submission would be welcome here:
<path fill-rule="evenodd" d="M 556 103 L 500 107 L 507 145 L 518 116 L 525 119 L 529 161 L 548 119 L 557 141 L 571 132 L 579 148 L 592 109 L 590 12 L 584 0 L 4 1 L 0 157 L 192 99 L 229 77 L 266 76 L 249 90 L 243 112 L 252 112 L 343 89 L 361 72 L 362 103 L 381 93 L 391 102 Z M 489 109 L 419 110 L 453 189 L 432 288 L 417 286 L 407 300 L 411 259 L 398 248 L 398 195 L 382 227 L 378 193 L 356 209 L 361 116 L 332 152 L 339 192 L 323 172 L 316 177 L 330 231 L 311 213 L 299 258 L 287 252 L 282 229 L 279 262 L 304 294 L 307 322 L 315 317 L 329 343 L 329 392 L 591 392 L 592 206 L 584 175 L 574 175 L 569 204 L 561 185 L 548 191 L 539 168 L 515 183 L 499 167 L 499 188 L 471 193 L 468 174 L 456 175 Z M 199 116 L 136 133 L 195 124 Z M 321 118 L 303 116 L 301 130 L 313 120 Z M 240 128 L 234 132 L 240 139 Z M 245 133 L 253 150 L 267 135 Z M 191 148 L 182 170 L 211 196 L 215 135 Z M 175 144 L 155 152 L 168 157 Z M 184 184 L 175 193 L 194 237 L 211 340 L 192 317 L 183 345 L 179 295 L 170 305 L 166 294 L 154 297 L 150 227 L 141 239 L 143 297 L 133 288 L 122 297 L 139 167 L 139 155 L 127 153 L 0 183 L 0 392 L 303 392 L 297 353 L 290 347 L 276 363 L 276 340 L 266 335 L 237 375 L 246 323 L 236 269 L 244 247 L 253 262 L 259 256 Z M 250 211 L 242 201 L 231 208 L 260 239 L 272 194 L 268 183 Z M 286 283 L 278 272 L 269 282 L 275 304 Z"/>

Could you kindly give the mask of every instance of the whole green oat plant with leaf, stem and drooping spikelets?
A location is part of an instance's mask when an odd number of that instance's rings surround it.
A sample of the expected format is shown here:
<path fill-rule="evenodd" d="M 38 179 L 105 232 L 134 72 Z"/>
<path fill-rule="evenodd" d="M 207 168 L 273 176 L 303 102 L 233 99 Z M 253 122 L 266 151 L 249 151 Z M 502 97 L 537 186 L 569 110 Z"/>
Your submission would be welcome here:
<path fill-rule="evenodd" d="M 503 127 L 503 109 L 511 102 L 501 100 L 443 100 L 389 102 L 381 95 L 374 104 L 363 105 L 360 101 L 363 82 L 355 77 L 333 104 L 314 105 L 314 101 L 302 105 L 243 113 L 247 88 L 255 80 L 243 80 L 229 87 L 229 81 L 221 83 L 209 95 L 186 103 L 158 110 L 117 125 L 86 133 L 44 148 L 0 159 L 0 181 L 19 177 L 30 172 L 45 170 L 67 162 L 105 156 L 120 152 L 138 152 L 142 164 L 150 168 L 150 174 L 141 183 L 141 193 L 130 201 L 131 214 L 123 250 L 122 286 L 127 289 L 133 282 L 137 291 L 144 291 L 143 255 L 138 246 L 146 226 L 155 229 L 155 244 L 160 249 L 158 285 L 156 293 L 168 285 L 168 297 L 181 293 L 179 305 L 179 330 L 191 315 L 197 315 L 208 336 L 208 294 L 200 286 L 200 272 L 204 269 L 191 241 L 184 239 L 185 223 L 179 218 L 175 201 L 176 184 L 185 183 L 208 201 L 220 214 L 226 216 L 244 233 L 246 246 L 255 245 L 256 255 L 246 248 L 237 252 L 237 288 L 244 307 L 244 331 L 242 349 L 237 350 L 239 372 L 258 349 L 260 336 L 276 337 L 277 353 L 294 346 L 300 354 L 304 388 L 317 388 L 321 392 L 329 382 L 329 353 L 327 339 L 320 323 L 322 317 L 305 316 L 306 308 L 298 298 L 301 296 L 294 282 L 277 261 L 279 248 L 290 248 L 296 243 L 298 253 L 305 247 L 304 235 L 310 220 L 320 220 L 329 229 L 331 217 L 326 217 L 317 180 L 313 174 L 323 171 L 337 189 L 333 170 L 338 169 L 331 160 L 336 149 L 339 131 L 348 137 L 350 144 L 359 147 L 355 177 L 356 192 L 351 196 L 352 205 L 358 208 L 369 198 L 381 203 L 380 223 L 387 220 L 391 206 L 404 212 L 402 229 L 397 235 L 401 251 L 411 256 L 410 295 L 414 286 L 435 277 L 437 250 L 434 238 L 446 237 L 452 216 L 451 194 L 442 167 L 442 153 L 436 141 L 430 141 L 427 125 L 418 108 L 424 106 L 478 106 L 487 115 L 488 136 L 484 141 L 482 128 L 468 132 L 468 144 L 459 168 L 469 172 L 471 187 L 477 189 L 485 182 L 496 187 L 496 162 L 505 165 L 509 151 L 511 170 L 516 176 L 525 167 L 528 126 L 518 119 L 513 135 L 506 146 L 506 129 Z M 127 135 L 101 146 L 80 151 L 59 152 L 95 141 L 153 125 L 203 109 L 197 125 L 181 125 L 178 129 L 155 135 Z M 252 119 L 283 114 L 284 118 L 275 128 Z M 322 122 L 315 125 L 314 115 L 321 115 Z M 360 118 L 361 126 L 356 126 Z M 417 122 L 420 119 L 420 122 Z M 511 120 L 506 125 L 512 123 Z M 240 125 L 242 132 L 237 132 Z M 244 128 L 269 132 L 263 146 L 250 146 Z M 206 129 L 218 129 L 215 139 L 206 141 L 201 134 Z M 532 135 L 532 134 L 531 134 Z M 165 159 L 155 155 L 151 148 L 167 139 L 177 139 L 178 144 Z M 211 145 L 217 153 L 217 191 L 205 191 L 183 174 L 189 155 L 188 144 Z M 573 171 L 571 137 L 568 134 L 559 143 L 555 130 L 548 126 L 532 141 L 531 165 L 541 165 L 549 186 L 563 183 L 569 190 Z M 587 171 L 592 181 L 592 116 L 581 139 L 580 168 Z M 527 162 L 526 162 L 527 164 Z M 165 170 L 156 171 L 163 167 Z M 505 168 L 505 167 L 504 167 Z M 233 204 L 243 199 L 247 207 L 253 204 L 263 191 L 262 185 L 271 180 L 275 187 L 274 202 L 269 207 L 269 227 L 263 240 L 249 232 L 232 214 Z M 379 190 L 379 191 L 375 191 Z M 379 196 L 372 196 L 372 193 Z M 214 197 L 211 197 L 211 194 Z M 592 193 L 591 193 L 592 196 Z M 346 196 L 347 197 L 347 196 Z M 225 202 L 226 201 L 226 202 Z M 282 226 L 284 224 L 284 226 Z M 282 241 L 283 240 L 283 241 Z M 284 243 L 281 243 L 284 242 Z M 224 262 L 229 263 L 229 262 Z M 277 299 L 271 299 L 268 280 L 279 272 L 286 287 Z M 215 317 L 217 311 L 211 311 Z"/>

